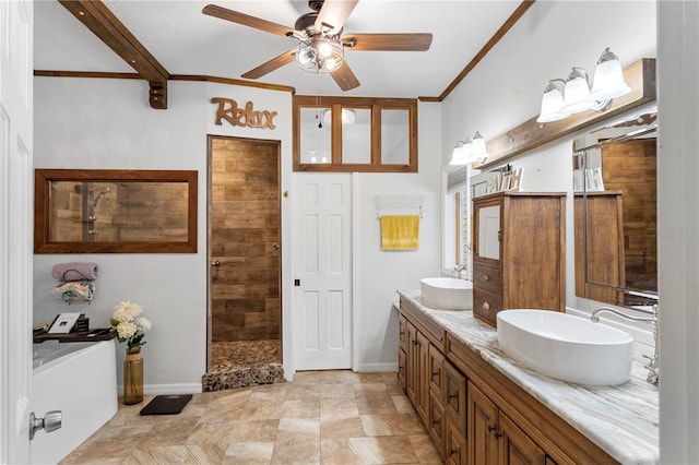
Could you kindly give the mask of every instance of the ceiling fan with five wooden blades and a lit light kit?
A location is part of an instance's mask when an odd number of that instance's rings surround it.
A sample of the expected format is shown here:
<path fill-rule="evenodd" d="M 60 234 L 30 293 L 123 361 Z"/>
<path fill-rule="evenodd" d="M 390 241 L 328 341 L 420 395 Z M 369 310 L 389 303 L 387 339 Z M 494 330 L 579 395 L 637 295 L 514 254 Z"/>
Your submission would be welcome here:
<path fill-rule="evenodd" d="M 343 26 L 359 0 L 309 0 L 311 12 L 296 20 L 294 27 L 208 4 L 202 13 L 254 27 L 283 37 L 293 37 L 292 50 L 246 72 L 241 78 L 259 79 L 285 64 L 296 61 L 303 70 L 330 73 L 343 91 L 359 86 L 359 81 L 344 60 L 347 50 L 426 51 L 433 41 L 429 33 L 416 34 L 344 34 Z"/>

